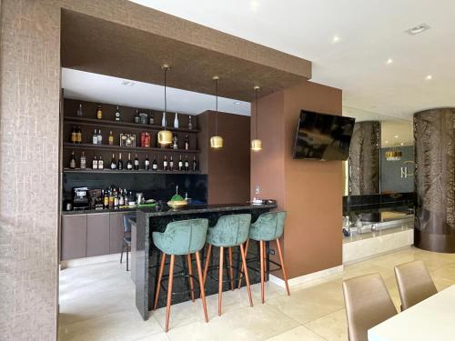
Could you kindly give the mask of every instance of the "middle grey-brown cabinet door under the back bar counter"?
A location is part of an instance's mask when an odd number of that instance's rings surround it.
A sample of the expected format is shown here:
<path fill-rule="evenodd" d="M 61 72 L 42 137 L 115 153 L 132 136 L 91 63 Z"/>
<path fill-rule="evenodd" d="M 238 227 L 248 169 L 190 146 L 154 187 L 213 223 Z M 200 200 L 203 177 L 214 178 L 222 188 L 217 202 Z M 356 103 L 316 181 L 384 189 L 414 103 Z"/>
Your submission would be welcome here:
<path fill-rule="evenodd" d="M 109 254 L 109 214 L 91 214 L 86 218 L 86 256 Z"/>

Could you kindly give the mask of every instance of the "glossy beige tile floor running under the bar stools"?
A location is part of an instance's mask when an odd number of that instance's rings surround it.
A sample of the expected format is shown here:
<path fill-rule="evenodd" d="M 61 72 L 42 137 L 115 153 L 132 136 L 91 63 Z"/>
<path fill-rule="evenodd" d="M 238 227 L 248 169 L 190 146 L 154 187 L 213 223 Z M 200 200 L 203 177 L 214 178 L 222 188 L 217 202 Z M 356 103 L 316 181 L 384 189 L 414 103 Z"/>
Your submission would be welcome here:
<path fill-rule="evenodd" d="M 393 267 L 422 259 L 439 290 L 455 284 L 455 255 L 409 248 L 345 266 L 343 273 L 284 289 L 268 283 L 266 304 L 254 307 L 245 289 L 223 296 L 223 315 L 217 316 L 217 296 L 207 297 L 209 323 L 200 300 L 171 309 L 170 331 L 164 333 L 165 309 L 143 321 L 136 311 L 134 286 L 125 265 L 106 262 L 68 268 L 60 273 L 59 341 L 92 340 L 347 340 L 341 292 L 344 278 L 378 272 L 397 307 L 399 294 Z"/>

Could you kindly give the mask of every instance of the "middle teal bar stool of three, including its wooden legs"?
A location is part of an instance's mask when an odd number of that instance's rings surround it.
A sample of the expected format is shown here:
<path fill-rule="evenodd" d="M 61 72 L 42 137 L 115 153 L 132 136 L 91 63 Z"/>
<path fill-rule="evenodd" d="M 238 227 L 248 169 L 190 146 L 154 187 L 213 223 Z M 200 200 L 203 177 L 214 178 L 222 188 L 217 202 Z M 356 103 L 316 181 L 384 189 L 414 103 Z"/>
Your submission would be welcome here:
<path fill-rule="evenodd" d="M 246 252 L 244 243 L 248 239 L 249 224 L 251 222 L 251 215 L 229 215 L 220 216 L 217 220 L 217 225 L 209 227 L 207 231 L 206 242 L 208 244 L 206 263 L 204 266 L 204 283 L 207 279 L 208 263 L 212 254 L 212 247 L 219 247 L 219 264 L 212 267 L 211 270 L 218 268 L 218 316 L 221 316 L 221 303 L 223 293 L 223 263 L 224 263 L 224 249 L 228 248 L 229 257 L 229 282 L 231 290 L 234 290 L 234 267 L 232 266 L 232 247 L 240 246 L 240 254 L 242 257 L 242 265 L 245 271 L 245 280 L 247 281 L 247 290 L 249 297 L 249 305 L 253 306 L 253 299 L 251 298 L 251 290 L 249 288 L 249 277 L 247 273 Z"/>

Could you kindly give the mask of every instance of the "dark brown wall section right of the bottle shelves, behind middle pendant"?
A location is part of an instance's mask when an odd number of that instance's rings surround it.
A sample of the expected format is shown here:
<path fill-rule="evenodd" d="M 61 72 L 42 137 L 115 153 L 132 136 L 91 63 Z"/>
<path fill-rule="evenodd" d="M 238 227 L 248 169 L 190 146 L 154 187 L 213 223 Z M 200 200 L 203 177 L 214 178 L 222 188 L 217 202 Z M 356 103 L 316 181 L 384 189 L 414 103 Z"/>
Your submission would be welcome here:
<path fill-rule="evenodd" d="M 218 135 L 224 139 L 220 150 L 210 148 L 215 134 L 215 112 L 197 115 L 201 171 L 208 175 L 208 203 L 244 203 L 249 200 L 249 116 L 218 113 Z"/>

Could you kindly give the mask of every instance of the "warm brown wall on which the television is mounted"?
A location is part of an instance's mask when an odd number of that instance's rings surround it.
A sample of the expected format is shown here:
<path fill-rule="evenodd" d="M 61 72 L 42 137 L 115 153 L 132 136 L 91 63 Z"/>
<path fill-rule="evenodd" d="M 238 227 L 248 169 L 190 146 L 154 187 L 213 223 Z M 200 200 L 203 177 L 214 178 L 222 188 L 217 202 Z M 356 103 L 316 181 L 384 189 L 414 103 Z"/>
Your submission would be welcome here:
<path fill-rule="evenodd" d="M 292 158 L 301 109 L 341 115 L 341 90 L 304 82 L 260 98 L 263 150 L 251 157 L 251 196 L 260 185 L 260 197 L 277 198 L 288 212 L 282 243 L 291 278 L 342 263 L 341 162 Z M 254 105 L 251 113 L 254 122 Z"/>

